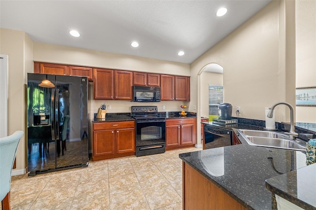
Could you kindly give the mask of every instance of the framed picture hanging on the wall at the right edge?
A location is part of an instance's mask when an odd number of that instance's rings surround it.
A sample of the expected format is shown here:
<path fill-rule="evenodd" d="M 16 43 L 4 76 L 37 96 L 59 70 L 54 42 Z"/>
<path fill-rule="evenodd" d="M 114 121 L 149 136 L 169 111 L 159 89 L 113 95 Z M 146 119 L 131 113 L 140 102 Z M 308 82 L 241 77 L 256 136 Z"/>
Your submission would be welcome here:
<path fill-rule="evenodd" d="M 316 87 L 296 88 L 296 105 L 316 106 Z"/>

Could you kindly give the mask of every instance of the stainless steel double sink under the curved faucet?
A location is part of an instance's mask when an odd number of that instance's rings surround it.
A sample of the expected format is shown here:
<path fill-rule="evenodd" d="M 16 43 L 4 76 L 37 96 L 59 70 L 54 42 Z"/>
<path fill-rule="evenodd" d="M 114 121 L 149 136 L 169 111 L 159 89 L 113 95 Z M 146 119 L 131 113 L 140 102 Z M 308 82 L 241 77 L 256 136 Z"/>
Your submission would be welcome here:
<path fill-rule="evenodd" d="M 240 136 L 253 146 L 305 151 L 306 145 L 299 140 L 290 140 L 286 135 L 273 131 L 237 129 Z"/>

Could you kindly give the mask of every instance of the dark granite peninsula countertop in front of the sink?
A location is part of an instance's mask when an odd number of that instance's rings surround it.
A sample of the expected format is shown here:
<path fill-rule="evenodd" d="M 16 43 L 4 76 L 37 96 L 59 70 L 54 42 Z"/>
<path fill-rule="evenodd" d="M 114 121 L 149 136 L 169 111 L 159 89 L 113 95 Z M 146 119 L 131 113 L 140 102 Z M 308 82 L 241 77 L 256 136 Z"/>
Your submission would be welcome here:
<path fill-rule="evenodd" d="M 179 157 L 247 209 L 272 209 L 266 179 L 306 166 L 300 151 L 246 143 L 180 154 Z M 275 168 L 268 158 L 273 158 Z"/>

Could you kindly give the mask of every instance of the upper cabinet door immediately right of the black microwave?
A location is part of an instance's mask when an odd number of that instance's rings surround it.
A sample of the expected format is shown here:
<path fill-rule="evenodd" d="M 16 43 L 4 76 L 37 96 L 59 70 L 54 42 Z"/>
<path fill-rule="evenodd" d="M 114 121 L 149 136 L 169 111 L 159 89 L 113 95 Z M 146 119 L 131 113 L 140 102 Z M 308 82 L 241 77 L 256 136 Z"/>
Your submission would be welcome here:
<path fill-rule="evenodd" d="M 160 100 L 174 101 L 174 76 L 160 75 Z"/>

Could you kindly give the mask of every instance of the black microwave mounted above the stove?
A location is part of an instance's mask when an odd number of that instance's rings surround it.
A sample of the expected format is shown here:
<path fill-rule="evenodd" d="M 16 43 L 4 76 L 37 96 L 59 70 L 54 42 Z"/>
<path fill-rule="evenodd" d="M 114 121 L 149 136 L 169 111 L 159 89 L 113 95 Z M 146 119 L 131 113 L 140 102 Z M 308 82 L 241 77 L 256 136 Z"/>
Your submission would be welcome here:
<path fill-rule="evenodd" d="M 133 102 L 160 102 L 160 87 L 133 86 Z"/>

